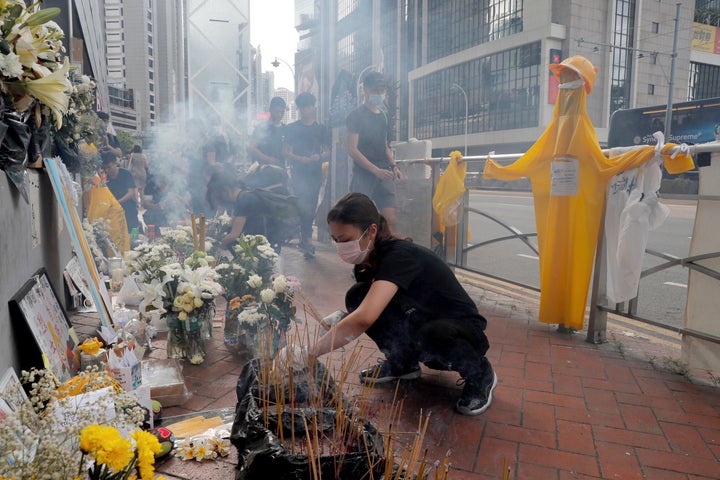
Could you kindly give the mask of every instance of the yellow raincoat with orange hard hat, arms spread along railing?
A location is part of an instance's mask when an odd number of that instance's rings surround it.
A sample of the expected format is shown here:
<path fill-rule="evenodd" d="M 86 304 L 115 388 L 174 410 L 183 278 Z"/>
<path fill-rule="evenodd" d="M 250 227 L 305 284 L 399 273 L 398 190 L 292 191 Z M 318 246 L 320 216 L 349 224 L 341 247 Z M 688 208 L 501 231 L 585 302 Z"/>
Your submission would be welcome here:
<path fill-rule="evenodd" d="M 506 167 L 488 159 L 483 177 L 530 179 L 540 252 L 538 319 L 579 330 L 585 318 L 608 182 L 617 173 L 650 160 L 655 155 L 655 147 L 605 157 L 585 109 L 586 95 L 592 90 L 596 70 L 573 68 L 573 60 L 594 67 L 582 57 L 571 57 L 563 62 L 582 76 L 585 88 L 582 85 L 562 88 L 561 84 L 553 119 L 537 142 Z M 559 71 L 561 69 L 556 74 Z M 662 152 L 668 152 L 672 147 L 674 145 L 667 144 Z M 685 154 L 674 160 L 666 156 L 667 162 L 689 166 L 683 171 L 693 166 L 692 159 Z M 677 169 L 675 165 L 674 170 Z"/>

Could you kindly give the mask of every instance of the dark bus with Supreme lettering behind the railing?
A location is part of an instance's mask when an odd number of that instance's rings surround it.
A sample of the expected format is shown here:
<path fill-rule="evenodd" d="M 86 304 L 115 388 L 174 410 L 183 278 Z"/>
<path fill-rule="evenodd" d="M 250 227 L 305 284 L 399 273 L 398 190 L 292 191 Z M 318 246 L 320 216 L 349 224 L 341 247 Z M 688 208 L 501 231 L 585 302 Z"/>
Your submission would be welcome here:
<path fill-rule="evenodd" d="M 667 105 L 617 110 L 610 117 L 608 148 L 654 145 L 665 131 Z M 720 97 L 674 103 L 666 142 L 698 144 L 720 140 Z"/>

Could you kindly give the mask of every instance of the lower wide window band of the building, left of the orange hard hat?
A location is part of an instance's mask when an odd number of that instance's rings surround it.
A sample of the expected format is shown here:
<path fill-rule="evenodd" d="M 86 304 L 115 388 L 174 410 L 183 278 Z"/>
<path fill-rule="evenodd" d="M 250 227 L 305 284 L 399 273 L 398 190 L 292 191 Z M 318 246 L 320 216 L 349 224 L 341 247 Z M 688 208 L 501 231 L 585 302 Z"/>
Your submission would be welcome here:
<path fill-rule="evenodd" d="M 540 42 L 455 65 L 414 82 L 419 139 L 536 127 L 540 112 Z M 543 70 L 543 74 L 545 70 Z"/>

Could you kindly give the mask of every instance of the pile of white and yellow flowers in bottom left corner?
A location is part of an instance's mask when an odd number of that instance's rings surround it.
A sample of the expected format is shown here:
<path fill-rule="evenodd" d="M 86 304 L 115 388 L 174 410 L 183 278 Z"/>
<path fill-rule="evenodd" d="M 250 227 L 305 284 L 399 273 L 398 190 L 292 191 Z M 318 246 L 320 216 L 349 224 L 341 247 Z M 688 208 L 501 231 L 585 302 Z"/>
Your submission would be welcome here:
<path fill-rule="evenodd" d="M 112 377 L 86 371 L 59 384 L 33 369 L 21 380 L 27 400 L 0 416 L 0 478 L 155 478 L 159 442 L 142 430 L 137 398 Z"/>

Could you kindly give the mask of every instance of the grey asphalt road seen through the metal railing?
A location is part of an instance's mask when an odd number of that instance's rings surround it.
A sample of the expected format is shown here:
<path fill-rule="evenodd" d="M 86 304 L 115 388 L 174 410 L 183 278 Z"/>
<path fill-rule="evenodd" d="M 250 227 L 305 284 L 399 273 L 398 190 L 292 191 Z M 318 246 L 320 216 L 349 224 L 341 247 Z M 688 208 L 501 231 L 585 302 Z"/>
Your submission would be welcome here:
<path fill-rule="evenodd" d="M 663 199 L 670 208 L 665 222 L 650 233 L 647 248 L 676 257 L 685 257 L 690 248 L 696 202 Z M 499 218 L 522 233 L 535 233 L 533 199 L 525 192 L 473 191 L 470 206 Z M 510 235 L 497 223 L 480 215 L 470 216 L 470 244 L 476 245 Z M 537 245 L 536 238 L 531 243 Z M 645 255 L 643 270 L 663 263 Z M 518 239 L 485 245 L 468 254 L 468 266 L 513 282 L 539 288 L 537 254 Z M 645 277 L 640 282 L 637 315 L 666 325 L 682 326 L 687 296 L 688 271 L 672 267 Z"/>

